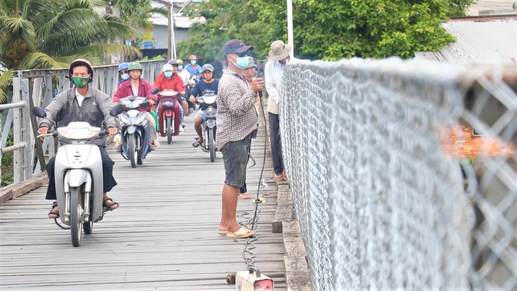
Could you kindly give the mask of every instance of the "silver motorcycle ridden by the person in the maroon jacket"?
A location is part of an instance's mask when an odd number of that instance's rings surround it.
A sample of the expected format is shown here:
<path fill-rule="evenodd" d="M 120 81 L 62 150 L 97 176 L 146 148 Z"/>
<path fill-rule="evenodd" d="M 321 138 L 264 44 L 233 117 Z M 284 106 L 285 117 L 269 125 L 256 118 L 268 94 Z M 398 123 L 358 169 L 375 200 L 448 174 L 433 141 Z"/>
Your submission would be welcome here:
<path fill-rule="evenodd" d="M 155 88 L 151 94 L 158 93 Z M 150 127 L 146 111 L 138 111 L 140 107 L 149 106 L 147 97 L 128 96 L 119 100 L 124 111 L 119 116 L 119 130 L 122 139 L 122 157 L 131 161 L 131 167 L 142 165 L 144 158 L 151 151 L 149 148 Z"/>

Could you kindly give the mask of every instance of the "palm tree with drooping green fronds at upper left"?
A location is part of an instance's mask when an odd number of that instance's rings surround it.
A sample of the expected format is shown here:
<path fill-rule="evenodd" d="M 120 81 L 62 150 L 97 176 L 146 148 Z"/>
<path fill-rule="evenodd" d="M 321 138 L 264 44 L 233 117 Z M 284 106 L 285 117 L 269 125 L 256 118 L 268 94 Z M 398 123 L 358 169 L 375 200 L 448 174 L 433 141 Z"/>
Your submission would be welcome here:
<path fill-rule="evenodd" d="M 12 71 L 67 68 L 77 57 L 100 63 L 104 55 L 121 52 L 141 55 L 111 39 L 134 37 L 137 32 L 119 17 L 98 15 L 102 0 L 0 0 L 0 103 Z"/>

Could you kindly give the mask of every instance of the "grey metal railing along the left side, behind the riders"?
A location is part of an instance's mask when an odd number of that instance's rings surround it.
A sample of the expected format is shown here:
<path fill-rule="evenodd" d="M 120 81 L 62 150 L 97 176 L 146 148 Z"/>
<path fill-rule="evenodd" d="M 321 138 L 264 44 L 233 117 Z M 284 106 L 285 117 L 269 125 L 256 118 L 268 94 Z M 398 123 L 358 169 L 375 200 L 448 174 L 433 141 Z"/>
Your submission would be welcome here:
<path fill-rule="evenodd" d="M 166 59 L 140 62 L 142 78 L 151 84 L 162 71 Z M 118 66 L 95 66 L 93 88 L 113 95 L 118 84 Z M 45 165 L 45 156 L 54 156 L 56 144 L 52 137 L 47 137 L 41 144 L 35 139 L 37 120 L 30 114 L 32 106 L 47 106 L 55 95 L 71 87 L 68 79 L 68 68 L 17 71 L 13 79 L 13 95 L 10 104 L 0 105 L 0 110 L 9 109 L 6 123 L 0 139 L 0 159 L 3 153 L 14 151 L 13 182 L 18 183 L 41 171 Z M 6 147 L 8 135 L 12 130 L 13 143 Z M 0 181 L 1 182 L 1 181 Z"/>

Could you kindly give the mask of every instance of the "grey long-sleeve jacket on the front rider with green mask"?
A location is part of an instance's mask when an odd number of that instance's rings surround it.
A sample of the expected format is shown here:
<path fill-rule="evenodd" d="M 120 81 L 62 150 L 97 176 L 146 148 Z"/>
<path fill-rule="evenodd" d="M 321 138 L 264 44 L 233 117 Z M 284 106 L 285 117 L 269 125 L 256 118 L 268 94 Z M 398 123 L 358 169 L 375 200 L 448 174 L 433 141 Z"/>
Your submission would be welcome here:
<path fill-rule="evenodd" d="M 79 106 L 75 97 L 76 88 L 73 86 L 60 93 L 46 107 L 46 118 L 39 121 L 39 127 L 51 128 L 54 120 L 57 127 L 67 126 L 70 122 L 88 122 L 91 126 L 102 126 L 102 122 L 108 127 L 116 127 L 115 118 L 110 117 L 109 111 L 113 108 L 111 98 L 104 92 L 88 86 L 84 100 Z M 106 138 L 97 138 L 90 141 L 100 147 L 106 147 Z"/>

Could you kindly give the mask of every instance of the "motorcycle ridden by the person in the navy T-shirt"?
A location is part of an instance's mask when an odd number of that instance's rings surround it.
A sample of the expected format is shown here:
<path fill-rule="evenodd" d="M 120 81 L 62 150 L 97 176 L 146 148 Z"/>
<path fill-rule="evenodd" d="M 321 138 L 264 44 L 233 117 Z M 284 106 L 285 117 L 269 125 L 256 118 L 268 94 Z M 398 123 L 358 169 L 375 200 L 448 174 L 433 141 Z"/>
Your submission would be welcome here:
<path fill-rule="evenodd" d="M 205 142 L 201 144 L 200 148 L 203 151 L 210 153 L 211 162 L 214 162 L 216 160 L 216 99 L 217 95 L 215 94 L 205 94 L 203 96 L 196 98 L 196 101 L 200 104 L 200 106 L 205 106 L 205 109 L 203 109 L 203 111 L 205 111 L 207 115 L 207 120 L 205 120 L 203 124 L 201 124 L 201 126 L 203 127 L 203 140 Z"/>

